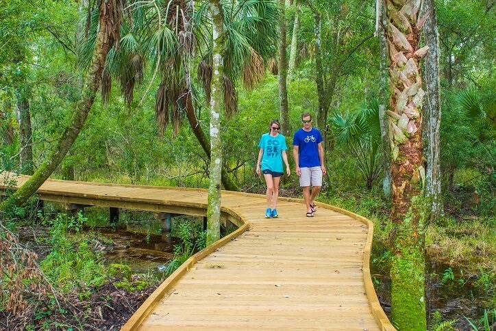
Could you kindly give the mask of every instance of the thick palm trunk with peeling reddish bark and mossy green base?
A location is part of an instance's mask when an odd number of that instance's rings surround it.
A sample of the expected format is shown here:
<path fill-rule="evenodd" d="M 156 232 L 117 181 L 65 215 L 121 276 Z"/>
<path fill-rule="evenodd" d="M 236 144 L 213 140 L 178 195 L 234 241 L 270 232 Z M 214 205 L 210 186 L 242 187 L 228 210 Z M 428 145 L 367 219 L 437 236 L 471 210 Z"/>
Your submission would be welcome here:
<path fill-rule="evenodd" d="M 421 1 L 386 0 L 390 72 L 389 139 L 393 154 L 393 260 L 391 317 L 399 330 L 427 330 L 425 316 L 425 219 L 421 193 L 425 182 L 422 161 L 421 105 L 423 95 L 419 59 Z"/>

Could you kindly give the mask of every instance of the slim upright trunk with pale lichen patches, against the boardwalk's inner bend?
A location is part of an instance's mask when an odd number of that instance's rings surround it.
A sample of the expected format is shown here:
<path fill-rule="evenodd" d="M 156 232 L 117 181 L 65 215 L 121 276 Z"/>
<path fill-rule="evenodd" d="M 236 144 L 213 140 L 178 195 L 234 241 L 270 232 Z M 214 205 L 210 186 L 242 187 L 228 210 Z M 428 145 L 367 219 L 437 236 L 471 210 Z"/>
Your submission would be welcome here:
<path fill-rule="evenodd" d="M 210 184 L 208 186 L 207 245 L 221 237 L 221 172 L 222 140 L 221 112 L 223 110 L 224 76 L 224 16 L 220 0 L 209 0 L 212 14 L 212 97 L 210 98 Z"/>

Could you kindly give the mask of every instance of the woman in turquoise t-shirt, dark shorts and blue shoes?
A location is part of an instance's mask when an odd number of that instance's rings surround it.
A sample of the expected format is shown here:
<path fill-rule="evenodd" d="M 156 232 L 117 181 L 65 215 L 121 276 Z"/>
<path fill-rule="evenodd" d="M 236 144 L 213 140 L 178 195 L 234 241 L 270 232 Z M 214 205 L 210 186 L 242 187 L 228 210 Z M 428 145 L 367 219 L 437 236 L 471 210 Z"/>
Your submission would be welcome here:
<path fill-rule="evenodd" d="M 277 197 L 279 196 L 279 183 L 284 174 L 282 161 L 286 165 L 286 174 L 290 175 L 288 156 L 286 155 L 286 138 L 279 133 L 281 124 L 278 120 L 271 120 L 269 133 L 264 133 L 260 138 L 260 151 L 258 152 L 256 172 L 260 175 L 260 168 L 267 183 L 266 197 L 267 209 L 265 217 L 279 217 L 277 215 Z"/>

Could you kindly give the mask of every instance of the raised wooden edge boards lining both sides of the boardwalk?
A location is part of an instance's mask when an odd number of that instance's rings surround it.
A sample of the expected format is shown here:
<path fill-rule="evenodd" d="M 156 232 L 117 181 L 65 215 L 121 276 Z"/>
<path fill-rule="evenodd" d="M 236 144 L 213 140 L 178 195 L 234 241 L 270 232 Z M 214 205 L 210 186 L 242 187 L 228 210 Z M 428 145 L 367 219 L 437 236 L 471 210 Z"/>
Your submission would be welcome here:
<path fill-rule="evenodd" d="M 5 185 L 5 178 L 15 178 L 17 175 L 9 173 L 9 172 L 1 172 L 0 171 L 0 192 L 5 190 L 5 189 L 12 189 L 12 187 L 7 187 Z M 23 176 L 19 175 L 18 178 L 21 178 L 21 182 L 24 182 L 29 178 L 29 176 Z M 3 181 L 1 181 L 3 179 Z M 62 180 L 56 180 L 56 179 L 49 179 L 47 182 L 51 183 L 64 183 L 64 184 L 73 184 L 73 185 L 98 185 L 98 186 L 108 186 L 108 187 L 126 187 L 126 188 L 139 188 L 139 189 L 167 189 L 171 191 L 196 191 L 199 194 L 206 194 L 206 189 L 195 189 L 195 188 L 179 188 L 179 187 L 155 187 L 155 186 L 145 186 L 145 185 L 121 185 L 121 184 L 106 184 L 106 183 L 88 183 L 88 182 L 79 182 L 79 181 L 62 181 Z M 18 186 L 18 185 L 17 185 Z M 15 189 L 16 187 L 14 187 Z M 81 196 L 78 193 L 75 192 L 64 192 L 62 189 L 61 191 L 53 191 L 49 189 L 48 191 L 45 189 L 40 189 L 40 194 L 42 196 L 46 196 L 47 200 L 52 200 L 53 198 L 54 201 L 60 200 L 57 199 L 55 196 Z M 259 194 L 251 194 L 251 193 L 245 193 L 245 192 L 233 192 L 233 191 L 223 191 L 222 194 L 227 194 L 231 196 L 253 196 L 260 198 Z M 51 197 L 51 198 L 50 198 Z M 120 197 L 123 200 L 126 199 L 125 196 Z M 97 196 L 92 196 L 92 200 L 98 200 Z M 129 201 L 136 201 L 138 200 L 137 198 L 132 198 L 129 197 Z M 284 198 L 280 197 L 279 199 L 281 202 L 286 201 L 286 202 L 298 202 L 302 203 L 302 199 L 297 199 L 297 198 Z M 206 211 L 206 204 L 205 203 L 195 203 L 196 206 L 199 209 L 203 209 Z M 362 222 L 364 226 L 367 226 L 368 232 L 367 232 L 367 241 L 364 246 L 364 253 L 363 253 L 363 282 L 364 282 L 364 288 L 365 288 L 365 293 L 367 295 L 367 301 L 370 304 L 371 312 L 373 314 L 373 317 L 375 321 L 377 322 L 377 325 L 381 330 L 395 330 L 393 325 L 390 323 L 388 320 L 388 317 L 384 313 L 384 310 L 382 310 L 382 307 L 380 306 L 379 300 L 377 299 L 377 295 L 375 293 L 375 289 L 373 287 L 373 283 L 371 280 L 371 273 L 370 273 L 370 254 L 371 254 L 371 246 L 372 246 L 372 238 L 373 238 L 373 223 L 368 220 L 365 217 L 362 217 L 360 215 L 357 215 L 356 213 L 351 213 L 351 211 L 347 211 L 345 209 L 340 209 L 338 207 L 331 206 L 329 204 L 324 204 L 322 202 L 316 202 L 317 206 L 324 208 L 324 209 L 329 209 L 332 211 L 336 211 L 337 213 L 341 213 L 343 215 L 347 215 L 351 218 L 354 218 L 355 220 L 358 220 L 359 222 Z M 184 207 L 191 206 L 190 202 L 184 202 L 183 204 Z M 182 278 L 190 270 L 193 268 L 195 263 L 198 261 L 201 261 L 203 258 L 211 254 L 212 252 L 215 252 L 218 248 L 225 246 L 226 243 L 229 243 L 232 241 L 232 239 L 235 239 L 242 233 L 244 233 L 248 228 L 249 228 L 249 222 L 248 220 L 245 219 L 242 215 L 240 215 L 235 209 L 232 209 L 230 207 L 221 207 L 221 213 L 223 213 L 223 218 L 230 220 L 232 223 L 236 224 L 238 226 L 238 229 L 235 230 L 233 233 L 230 233 L 230 235 L 227 235 L 223 238 L 221 238 L 219 241 L 216 241 L 213 243 L 211 246 L 208 246 L 207 248 L 201 250 L 200 252 L 197 252 L 193 256 L 191 256 L 188 260 L 186 260 L 185 263 L 183 263 L 171 276 L 169 276 L 160 286 L 154 291 L 148 298 L 145 300 L 145 302 L 136 310 L 134 315 L 125 323 L 123 328 L 121 330 L 136 330 L 142 321 L 149 315 L 151 310 L 153 309 L 154 306 L 159 302 L 159 300 L 169 291 L 176 283 L 177 281 Z"/>

